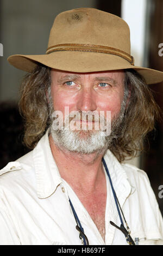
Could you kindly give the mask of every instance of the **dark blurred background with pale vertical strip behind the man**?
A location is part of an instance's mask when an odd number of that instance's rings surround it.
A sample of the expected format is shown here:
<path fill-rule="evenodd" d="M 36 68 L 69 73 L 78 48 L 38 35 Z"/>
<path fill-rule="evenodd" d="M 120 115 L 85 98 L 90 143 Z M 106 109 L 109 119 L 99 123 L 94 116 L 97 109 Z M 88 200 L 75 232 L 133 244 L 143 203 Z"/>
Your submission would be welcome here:
<path fill-rule="evenodd" d="M 81 7 L 108 11 L 126 20 L 135 65 L 163 72 L 163 56 L 159 56 L 159 44 L 163 44 L 162 0 L 0 0 L 0 169 L 29 151 L 22 145 L 23 120 L 17 110 L 19 87 L 26 73 L 10 66 L 7 57 L 17 53 L 44 54 L 55 16 Z M 150 87 L 163 110 L 163 84 Z M 159 186 L 163 185 L 162 130 L 163 122 L 157 122 L 156 132 L 149 133 L 145 141 L 145 152 L 128 162 L 147 172 L 163 215 L 163 198 L 159 198 Z"/>

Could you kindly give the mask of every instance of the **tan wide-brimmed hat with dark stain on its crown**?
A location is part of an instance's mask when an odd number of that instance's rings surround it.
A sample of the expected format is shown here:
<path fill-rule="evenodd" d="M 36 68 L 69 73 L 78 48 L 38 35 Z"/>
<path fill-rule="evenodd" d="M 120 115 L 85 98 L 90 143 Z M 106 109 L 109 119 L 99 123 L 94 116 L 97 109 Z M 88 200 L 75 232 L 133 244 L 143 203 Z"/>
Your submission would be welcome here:
<path fill-rule="evenodd" d="M 45 54 L 12 55 L 8 61 L 26 72 L 32 72 L 39 63 L 74 73 L 135 69 L 147 84 L 163 81 L 163 72 L 134 66 L 127 23 L 94 8 L 60 13 L 54 20 Z"/>

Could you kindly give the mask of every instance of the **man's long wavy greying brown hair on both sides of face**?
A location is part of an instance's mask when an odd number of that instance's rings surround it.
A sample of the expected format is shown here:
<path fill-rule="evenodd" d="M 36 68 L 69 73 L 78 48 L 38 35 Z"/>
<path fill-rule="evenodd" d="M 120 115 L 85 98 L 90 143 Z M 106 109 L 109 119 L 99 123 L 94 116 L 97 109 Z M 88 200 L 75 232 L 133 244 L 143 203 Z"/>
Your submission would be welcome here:
<path fill-rule="evenodd" d="M 143 151 L 143 142 L 148 132 L 154 129 L 155 120 L 160 117 L 159 106 L 152 91 L 142 76 L 133 69 L 126 69 L 124 86 L 129 103 L 118 129 L 116 138 L 109 147 L 116 158 L 123 162 Z M 28 73 L 21 85 L 20 113 L 25 121 L 24 144 L 33 149 L 51 120 L 47 92 L 51 90 L 51 69 L 39 64 Z"/>

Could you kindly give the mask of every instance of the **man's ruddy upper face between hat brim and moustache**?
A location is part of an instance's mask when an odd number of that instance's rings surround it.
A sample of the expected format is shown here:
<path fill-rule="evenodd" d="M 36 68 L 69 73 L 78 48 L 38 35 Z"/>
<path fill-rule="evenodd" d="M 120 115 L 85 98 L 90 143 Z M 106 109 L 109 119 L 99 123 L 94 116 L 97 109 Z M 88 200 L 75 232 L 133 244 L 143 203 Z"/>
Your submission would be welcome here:
<path fill-rule="evenodd" d="M 124 95 L 124 72 L 71 73 L 52 69 L 52 99 L 55 110 L 120 112 Z"/>

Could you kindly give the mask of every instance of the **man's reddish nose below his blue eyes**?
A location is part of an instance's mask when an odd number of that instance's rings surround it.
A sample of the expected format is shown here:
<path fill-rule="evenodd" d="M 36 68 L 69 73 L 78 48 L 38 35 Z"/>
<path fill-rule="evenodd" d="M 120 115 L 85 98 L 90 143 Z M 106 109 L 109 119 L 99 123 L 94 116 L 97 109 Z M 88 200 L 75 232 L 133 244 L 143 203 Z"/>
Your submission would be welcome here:
<path fill-rule="evenodd" d="M 77 109 L 79 111 L 96 110 L 96 99 L 92 88 L 83 88 L 78 96 Z"/>

